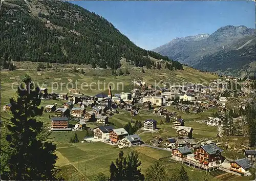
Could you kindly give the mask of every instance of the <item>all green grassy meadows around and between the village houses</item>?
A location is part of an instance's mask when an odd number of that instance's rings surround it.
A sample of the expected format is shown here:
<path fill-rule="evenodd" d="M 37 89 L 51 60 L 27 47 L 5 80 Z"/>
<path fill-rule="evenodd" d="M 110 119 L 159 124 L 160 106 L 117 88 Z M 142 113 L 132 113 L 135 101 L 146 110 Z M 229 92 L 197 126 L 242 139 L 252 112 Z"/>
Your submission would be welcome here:
<path fill-rule="evenodd" d="M 29 65 L 30 66 L 30 65 Z M 113 87 L 112 93 L 121 93 L 121 92 L 130 92 L 131 89 L 136 86 L 133 85 L 134 80 L 143 80 L 147 84 L 155 84 L 156 82 L 162 80 L 170 83 L 182 83 L 182 82 L 193 82 L 193 83 L 209 83 L 212 80 L 217 79 L 218 77 L 211 74 L 206 74 L 198 72 L 190 67 L 184 66 L 184 71 L 168 71 L 168 70 L 145 70 L 145 73 L 142 73 L 141 68 L 134 68 L 127 66 L 130 75 L 122 76 L 112 76 L 111 70 L 87 70 L 85 74 L 73 73 L 72 70 L 49 70 L 49 71 L 40 71 L 35 70 L 25 71 L 1 71 L 1 119 L 10 118 L 8 112 L 3 111 L 3 106 L 9 103 L 11 97 L 16 97 L 15 89 L 17 84 L 22 80 L 25 74 L 29 74 L 34 82 L 37 82 L 41 87 L 47 87 L 49 92 L 61 93 L 68 92 L 68 89 L 71 88 L 71 83 L 74 83 L 76 80 L 80 83 L 87 82 L 88 84 L 92 82 L 102 82 L 105 84 L 100 84 L 101 90 L 93 84 L 89 90 L 81 90 L 80 92 L 85 95 L 94 96 L 100 92 L 108 94 L 108 83 L 112 82 L 117 85 L 118 82 L 122 82 L 124 89 L 117 90 L 117 87 Z M 26 67 L 24 67 L 26 68 Z M 125 72 L 125 70 L 123 70 Z M 62 89 L 60 89 L 60 83 L 63 84 Z M 69 83 L 69 86 L 66 86 Z M 44 85 L 43 85 L 44 84 Z M 59 85 L 58 89 L 56 84 Z M 52 86 L 54 85 L 54 86 Z M 12 89 L 12 86 L 14 89 Z M 161 84 L 162 86 L 162 84 Z M 104 90 L 105 89 L 105 90 Z M 57 103 L 57 106 L 60 106 L 63 102 L 62 100 L 42 100 L 41 106 L 46 106 L 47 104 Z M 207 118 L 212 112 L 215 112 L 215 109 L 209 109 L 200 114 L 183 114 L 174 107 L 167 107 L 170 111 L 176 111 L 185 120 L 185 126 L 191 126 L 194 128 L 194 137 L 197 139 L 200 138 L 212 138 L 217 134 L 217 127 L 208 127 L 205 123 L 196 122 L 197 120 L 203 120 Z M 45 113 L 38 117 L 37 119 L 44 122 L 46 127 L 50 127 L 49 116 L 54 113 Z M 144 121 L 146 119 L 155 119 L 160 123 L 165 121 L 165 118 L 153 115 L 150 111 L 140 110 L 139 115 L 131 117 L 130 112 L 119 109 L 119 114 L 115 114 L 113 117 L 109 118 L 109 121 L 113 123 L 116 128 L 123 127 L 125 124 L 131 121 Z M 98 126 L 96 123 L 88 123 L 88 127 L 95 128 Z M 172 129 L 172 124 L 158 124 L 160 128 L 158 132 L 148 133 L 143 131 L 138 131 L 143 142 L 148 142 L 152 136 L 161 135 L 162 137 L 174 137 L 176 135 L 176 130 Z M 76 131 L 78 134 L 79 141 L 84 138 L 85 131 Z M 120 151 L 119 148 L 114 146 L 104 144 L 102 142 L 92 142 L 92 143 L 68 143 L 70 138 L 73 137 L 74 131 L 66 132 L 52 132 L 51 140 L 57 145 L 56 154 L 58 155 L 58 160 L 56 166 L 61 169 L 60 175 L 67 180 L 81 180 L 83 179 L 93 179 L 93 177 L 100 172 L 109 174 L 109 166 L 111 161 L 115 161 L 118 157 Z M 145 173 L 146 168 L 155 161 L 159 160 L 162 157 L 170 156 L 170 151 L 158 150 L 149 147 L 134 147 L 122 149 L 125 154 L 136 150 L 139 152 L 139 157 L 142 162 L 141 170 Z M 78 164 L 79 162 L 79 164 Z M 172 173 L 178 171 L 181 167 L 181 164 L 172 162 L 164 162 L 167 172 Z M 185 167 L 188 171 L 191 180 L 203 180 L 205 176 L 204 171 L 194 170 L 192 167 Z M 215 178 L 211 178 L 214 180 Z"/>

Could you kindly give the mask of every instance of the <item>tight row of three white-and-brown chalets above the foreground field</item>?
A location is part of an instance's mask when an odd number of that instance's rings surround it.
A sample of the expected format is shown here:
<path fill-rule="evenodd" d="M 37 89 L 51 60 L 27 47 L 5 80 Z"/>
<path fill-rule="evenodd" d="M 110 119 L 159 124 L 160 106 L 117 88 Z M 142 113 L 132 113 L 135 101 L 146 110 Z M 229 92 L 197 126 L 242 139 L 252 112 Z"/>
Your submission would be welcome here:
<path fill-rule="evenodd" d="M 124 128 L 114 129 L 113 126 L 99 126 L 93 132 L 95 139 L 109 141 L 119 147 L 131 147 L 141 144 L 141 139 L 137 134 L 129 135 Z"/>

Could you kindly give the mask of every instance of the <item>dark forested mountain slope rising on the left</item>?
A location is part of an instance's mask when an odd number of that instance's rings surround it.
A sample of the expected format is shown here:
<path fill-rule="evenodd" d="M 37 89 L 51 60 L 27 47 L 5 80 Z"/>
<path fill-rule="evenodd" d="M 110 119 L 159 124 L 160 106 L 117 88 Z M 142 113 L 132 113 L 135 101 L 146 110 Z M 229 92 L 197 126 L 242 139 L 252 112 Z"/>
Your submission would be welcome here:
<path fill-rule="evenodd" d="M 5 0 L 1 8 L 2 60 L 86 63 L 117 69 L 120 58 L 151 68 L 156 59 L 182 64 L 137 47 L 108 20 L 53 0 Z"/>

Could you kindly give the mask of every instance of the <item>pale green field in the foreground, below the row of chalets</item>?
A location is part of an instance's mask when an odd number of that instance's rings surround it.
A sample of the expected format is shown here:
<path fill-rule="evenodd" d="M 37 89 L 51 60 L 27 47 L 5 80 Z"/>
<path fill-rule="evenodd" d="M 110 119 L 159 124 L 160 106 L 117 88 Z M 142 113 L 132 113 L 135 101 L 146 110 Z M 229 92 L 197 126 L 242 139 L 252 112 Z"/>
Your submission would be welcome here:
<path fill-rule="evenodd" d="M 132 150 L 136 150 L 139 153 L 139 159 L 142 163 L 140 166 L 142 173 L 145 173 L 146 169 L 153 165 L 155 161 L 162 157 L 170 156 L 172 153 L 170 151 L 148 147 L 122 149 L 125 155 Z M 84 177 L 84 175 L 86 175 L 87 179 L 91 180 L 100 172 L 109 175 L 109 166 L 112 161 L 115 162 L 119 151 L 120 149 L 102 142 L 84 144 L 76 143 L 70 146 L 66 144 L 65 147 L 58 148 L 57 155 L 61 156 L 59 156 L 59 160 L 56 165 L 60 166 L 59 168 L 62 169 L 61 175 L 66 179 L 71 179 L 71 177 L 73 177 L 70 170 L 78 168 L 80 177 Z M 169 174 L 172 174 L 174 171 L 178 172 L 181 167 L 181 164 L 176 164 L 174 161 L 161 161 L 161 163 L 165 165 L 166 172 Z M 198 171 L 197 169 L 194 170 L 193 167 L 185 166 L 185 169 L 188 172 L 190 180 L 203 180 L 205 176 L 204 171 Z M 65 174 L 65 172 L 67 174 Z M 210 177 L 210 179 L 216 180 L 213 177 Z"/>

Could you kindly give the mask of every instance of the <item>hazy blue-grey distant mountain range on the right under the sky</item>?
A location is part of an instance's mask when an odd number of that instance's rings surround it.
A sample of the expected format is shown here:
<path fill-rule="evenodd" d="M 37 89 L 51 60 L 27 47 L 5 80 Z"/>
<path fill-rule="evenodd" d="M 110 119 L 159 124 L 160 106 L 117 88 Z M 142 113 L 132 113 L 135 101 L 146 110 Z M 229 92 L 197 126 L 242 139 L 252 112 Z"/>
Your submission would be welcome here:
<path fill-rule="evenodd" d="M 175 38 L 153 51 L 196 69 L 240 74 L 255 61 L 255 29 L 228 25 L 211 35 Z"/>

